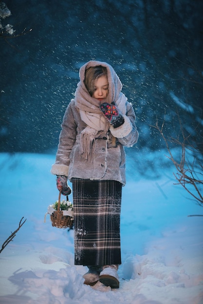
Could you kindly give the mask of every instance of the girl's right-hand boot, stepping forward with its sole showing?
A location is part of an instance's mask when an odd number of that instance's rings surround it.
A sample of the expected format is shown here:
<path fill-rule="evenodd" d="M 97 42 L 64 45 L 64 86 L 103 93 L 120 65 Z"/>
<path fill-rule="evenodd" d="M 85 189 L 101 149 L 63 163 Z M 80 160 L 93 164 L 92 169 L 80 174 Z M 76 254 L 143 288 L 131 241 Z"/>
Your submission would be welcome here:
<path fill-rule="evenodd" d="M 100 273 L 99 281 L 111 288 L 119 288 L 118 265 L 105 265 Z"/>

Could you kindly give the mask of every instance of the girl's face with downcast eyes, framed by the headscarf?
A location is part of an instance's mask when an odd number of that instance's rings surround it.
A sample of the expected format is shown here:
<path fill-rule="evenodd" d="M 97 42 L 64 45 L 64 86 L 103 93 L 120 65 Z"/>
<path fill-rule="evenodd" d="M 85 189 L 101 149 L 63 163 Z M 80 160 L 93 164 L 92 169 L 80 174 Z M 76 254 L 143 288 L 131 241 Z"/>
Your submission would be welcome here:
<path fill-rule="evenodd" d="M 95 80 L 92 97 L 103 101 L 109 94 L 109 83 L 106 76 L 101 76 Z"/>

